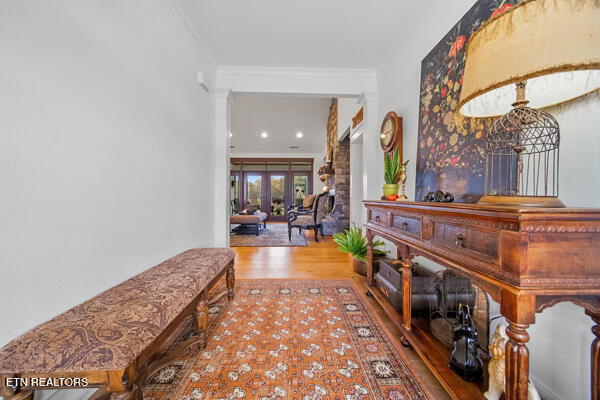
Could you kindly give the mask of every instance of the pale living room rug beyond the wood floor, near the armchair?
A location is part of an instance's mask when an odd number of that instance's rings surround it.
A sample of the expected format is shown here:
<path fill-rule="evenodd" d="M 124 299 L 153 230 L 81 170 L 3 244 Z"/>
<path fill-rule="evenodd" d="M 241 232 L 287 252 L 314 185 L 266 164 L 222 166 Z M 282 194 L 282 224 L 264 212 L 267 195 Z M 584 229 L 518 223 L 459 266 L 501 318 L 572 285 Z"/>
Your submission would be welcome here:
<path fill-rule="evenodd" d="M 298 233 L 298 229 L 292 230 L 292 241 L 290 242 L 285 223 L 267 223 L 267 228 L 261 229 L 258 236 L 232 232 L 230 238 L 231 247 L 308 246 L 306 238 Z"/>

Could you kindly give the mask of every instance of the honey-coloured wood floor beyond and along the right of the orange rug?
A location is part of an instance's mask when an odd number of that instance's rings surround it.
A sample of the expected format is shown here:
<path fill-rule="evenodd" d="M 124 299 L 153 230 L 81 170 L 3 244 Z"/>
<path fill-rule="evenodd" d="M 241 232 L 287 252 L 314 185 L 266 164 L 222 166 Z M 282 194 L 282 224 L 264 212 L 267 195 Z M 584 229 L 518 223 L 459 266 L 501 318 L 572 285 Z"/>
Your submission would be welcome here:
<path fill-rule="evenodd" d="M 352 258 L 349 254 L 337 250 L 330 236 L 316 243 L 312 232 L 306 233 L 307 247 L 232 247 L 236 252 L 235 275 L 237 279 L 335 279 L 351 278 L 364 284 L 364 278 L 352 273 Z M 372 299 L 367 301 L 376 310 L 392 336 L 399 341 L 400 333 L 383 310 Z M 435 399 L 446 400 L 450 397 L 431 374 L 417 353 L 405 349 L 415 374 L 421 377 L 423 384 Z"/>

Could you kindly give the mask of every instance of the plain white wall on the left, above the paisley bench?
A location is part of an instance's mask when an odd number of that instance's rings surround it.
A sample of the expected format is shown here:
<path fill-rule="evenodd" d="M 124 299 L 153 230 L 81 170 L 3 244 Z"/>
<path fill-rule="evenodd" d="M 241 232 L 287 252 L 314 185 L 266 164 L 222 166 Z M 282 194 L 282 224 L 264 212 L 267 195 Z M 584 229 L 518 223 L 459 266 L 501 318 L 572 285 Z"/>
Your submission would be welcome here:
<path fill-rule="evenodd" d="M 216 72 L 162 0 L 2 1 L 0 54 L 2 346 L 213 243 Z"/>

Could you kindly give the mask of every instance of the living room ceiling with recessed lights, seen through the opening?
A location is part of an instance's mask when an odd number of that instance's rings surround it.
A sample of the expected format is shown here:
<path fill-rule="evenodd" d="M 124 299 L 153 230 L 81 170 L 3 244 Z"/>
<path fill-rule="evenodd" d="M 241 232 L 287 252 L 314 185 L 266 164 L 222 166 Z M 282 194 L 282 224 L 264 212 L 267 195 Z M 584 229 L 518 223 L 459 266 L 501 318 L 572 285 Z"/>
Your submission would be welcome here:
<path fill-rule="evenodd" d="M 231 103 L 231 152 L 322 154 L 330 104 L 331 99 L 323 97 L 236 93 Z M 262 138 L 262 132 L 269 136 Z"/>

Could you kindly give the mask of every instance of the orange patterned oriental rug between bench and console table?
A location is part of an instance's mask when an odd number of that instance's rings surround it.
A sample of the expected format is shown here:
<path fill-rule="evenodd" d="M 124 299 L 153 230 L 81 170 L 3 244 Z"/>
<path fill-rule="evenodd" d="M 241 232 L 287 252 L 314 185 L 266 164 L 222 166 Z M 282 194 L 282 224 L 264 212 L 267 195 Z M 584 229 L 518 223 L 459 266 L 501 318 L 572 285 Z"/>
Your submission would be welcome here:
<path fill-rule="evenodd" d="M 150 377 L 152 400 L 424 400 L 350 280 L 247 280 L 209 308 L 209 341 Z"/>

